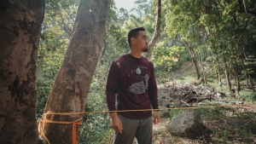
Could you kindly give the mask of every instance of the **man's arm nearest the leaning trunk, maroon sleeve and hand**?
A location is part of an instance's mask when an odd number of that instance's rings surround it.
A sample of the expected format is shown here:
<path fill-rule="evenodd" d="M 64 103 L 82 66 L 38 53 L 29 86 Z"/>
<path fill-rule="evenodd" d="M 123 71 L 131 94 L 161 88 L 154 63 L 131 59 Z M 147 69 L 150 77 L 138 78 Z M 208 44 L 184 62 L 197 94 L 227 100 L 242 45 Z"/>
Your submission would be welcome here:
<path fill-rule="evenodd" d="M 115 94 L 118 93 L 119 90 L 119 78 L 120 78 L 120 70 L 115 62 L 112 62 L 108 72 L 108 80 L 106 86 L 106 95 L 107 95 L 107 103 L 109 111 L 116 111 L 115 108 Z M 123 125 L 121 120 L 119 119 L 117 112 L 111 112 L 111 124 L 113 130 L 122 133 Z"/>

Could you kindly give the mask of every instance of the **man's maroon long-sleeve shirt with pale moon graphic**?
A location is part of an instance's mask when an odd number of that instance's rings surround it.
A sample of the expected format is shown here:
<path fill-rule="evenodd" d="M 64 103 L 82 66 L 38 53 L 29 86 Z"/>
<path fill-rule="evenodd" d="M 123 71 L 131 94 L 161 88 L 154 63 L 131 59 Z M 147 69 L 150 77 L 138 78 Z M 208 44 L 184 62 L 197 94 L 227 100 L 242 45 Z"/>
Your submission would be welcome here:
<path fill-rule="evenodd" d="M 158 109 L 157 86 L 154 66 L 144 58 L 130 54 L 114 60 L 108 73 L 106 87 L 108 110 L 115 111 L 115 95 L 118 94 L 117 110 Z M 151 107 L 152 106 L 152 107 Z M 119 112 L 125 118 L 142 119 L 152 116 L 151 111 Z"/>

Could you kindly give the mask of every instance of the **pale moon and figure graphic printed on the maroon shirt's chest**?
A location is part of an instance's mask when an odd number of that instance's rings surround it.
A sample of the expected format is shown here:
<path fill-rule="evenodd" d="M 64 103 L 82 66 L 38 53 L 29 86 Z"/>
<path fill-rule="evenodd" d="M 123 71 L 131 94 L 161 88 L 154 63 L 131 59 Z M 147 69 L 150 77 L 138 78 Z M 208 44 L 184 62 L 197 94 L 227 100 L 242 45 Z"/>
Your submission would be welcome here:
<path fill-rule="evenodd" d="M 141 74 L 142 73 L 142 70 L 140 68 L 145 68 L 145 69 L 148 69 L 148 67 L 143 67 L 143 66 L 139 66 L 137 67 L 135 73 L 133 74 Z M 136 76 L 137 79 L 140 80 L 140 82 L 138 83 L 134 83 L 134 84 L 131 84 L 131 86 L 129 86 L 129 89 L 128 91 L 130 91 L 131 93 L 134 93 L 134 94 L 143 94 L 145 93 L 145 90 L 148 89 L 148 74 L 146 74 L 144 77 L 143 76 Z"/>

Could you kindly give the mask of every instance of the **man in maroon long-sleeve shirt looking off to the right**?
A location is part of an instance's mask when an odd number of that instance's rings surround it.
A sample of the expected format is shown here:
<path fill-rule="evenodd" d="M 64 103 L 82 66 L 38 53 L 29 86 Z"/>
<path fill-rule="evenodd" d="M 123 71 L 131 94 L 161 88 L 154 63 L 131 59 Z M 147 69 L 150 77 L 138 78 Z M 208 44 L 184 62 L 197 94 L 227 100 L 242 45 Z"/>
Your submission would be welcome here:
<path fill-rule="evenodd" d="M 138 144 L 151 144 L 153 122 L 157 124 L 160 121 L 160 114 L 154 66 L 142 56 L 148 51 L 145 29 L 132 29 L 128 33 L 128 43 L 130 53 L 120 56 L 110 66 L 106 88 L 108 110 L 116 111 L 117 94 L 118 111 L 145 111 L 110 113 L 113 130 L 116 131 L 114 143 L 131 144 L 136 137 Z M 153 120 L 151 107 L 154 110 Z"/>

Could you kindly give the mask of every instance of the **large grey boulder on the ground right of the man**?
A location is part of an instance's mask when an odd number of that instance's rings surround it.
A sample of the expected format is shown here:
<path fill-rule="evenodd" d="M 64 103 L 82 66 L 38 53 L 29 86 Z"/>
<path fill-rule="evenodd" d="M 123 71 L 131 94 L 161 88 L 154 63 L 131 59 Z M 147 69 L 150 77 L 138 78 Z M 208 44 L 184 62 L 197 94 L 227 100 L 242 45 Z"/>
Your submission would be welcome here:
<path fill-rule="evenodd" d="M 172 119 L 169 129 L 172 135 L 196 139 L 209 131 L 196 112 L 184 112 Z"/>

